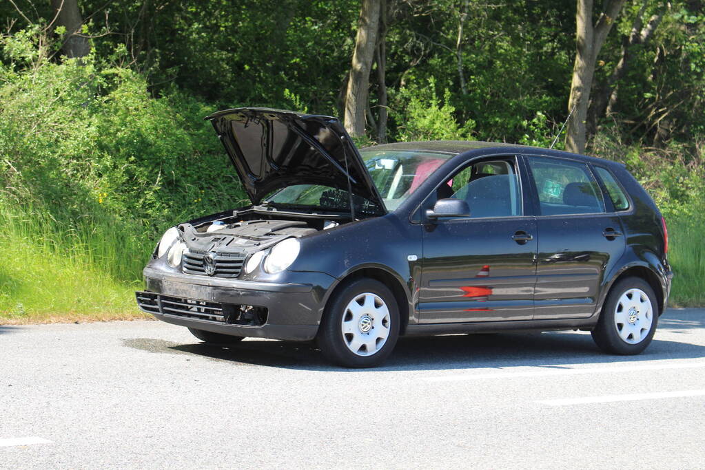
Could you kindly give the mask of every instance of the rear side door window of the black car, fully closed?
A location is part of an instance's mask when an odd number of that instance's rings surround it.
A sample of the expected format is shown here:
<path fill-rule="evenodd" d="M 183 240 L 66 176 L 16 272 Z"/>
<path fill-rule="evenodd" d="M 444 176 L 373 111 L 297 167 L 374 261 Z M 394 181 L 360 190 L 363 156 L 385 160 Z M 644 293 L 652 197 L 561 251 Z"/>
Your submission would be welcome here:
<path fill-rule="evenodd" d="M 541 215 L 605 212 L 602 191 L 584 163 L 531 157 Z"/>

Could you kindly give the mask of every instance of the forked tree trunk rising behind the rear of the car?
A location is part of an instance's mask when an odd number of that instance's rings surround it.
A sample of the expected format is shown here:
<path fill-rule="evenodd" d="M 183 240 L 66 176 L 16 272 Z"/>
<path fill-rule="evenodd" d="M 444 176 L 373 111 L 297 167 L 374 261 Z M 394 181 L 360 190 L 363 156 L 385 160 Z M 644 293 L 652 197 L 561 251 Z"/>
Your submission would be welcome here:
<path fill-rule="evenodd" d="M 568 120 L 565 136 L 565 148 L 570 152 L 585 151 L 587 109 L 592 79 L 595 75 L 595 62 L 624 4 L 625 0 L 606 0 L 604 11 L 600 13 L 596 25 L 593 25 L 592 0 L 577 0 L 575 14 L 577 47 L 568 99 L 568 113 L 572 111 L 572 116 Z"/>

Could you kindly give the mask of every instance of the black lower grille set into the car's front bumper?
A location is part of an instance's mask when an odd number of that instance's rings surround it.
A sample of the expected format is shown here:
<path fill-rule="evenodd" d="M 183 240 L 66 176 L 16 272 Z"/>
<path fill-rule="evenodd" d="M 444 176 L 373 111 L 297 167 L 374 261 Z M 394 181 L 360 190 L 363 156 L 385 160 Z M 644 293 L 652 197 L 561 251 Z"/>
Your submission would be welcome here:
<path fill-rule="evenodd" d="M 147 313 L 247 326 L 261 326 L 266 323 L 267 318 L 266 308 L 253 305 L 163 296 L 154 292 L 135 292 L 135 296 L 137 305 Z"/>

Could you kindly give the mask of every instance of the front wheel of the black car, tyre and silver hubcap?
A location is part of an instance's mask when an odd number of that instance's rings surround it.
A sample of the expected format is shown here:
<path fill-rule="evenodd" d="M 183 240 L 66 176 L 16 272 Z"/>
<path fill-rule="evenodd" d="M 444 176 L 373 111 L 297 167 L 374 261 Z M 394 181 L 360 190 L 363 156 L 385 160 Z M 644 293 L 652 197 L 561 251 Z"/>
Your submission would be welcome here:
<path fill-rule="evenodd" d="M 399 308 L 387 286 L 357 279 L 331 299 L 318 333 L 321 351 L 343 367 L 374 367 L 399 336 Z"/>

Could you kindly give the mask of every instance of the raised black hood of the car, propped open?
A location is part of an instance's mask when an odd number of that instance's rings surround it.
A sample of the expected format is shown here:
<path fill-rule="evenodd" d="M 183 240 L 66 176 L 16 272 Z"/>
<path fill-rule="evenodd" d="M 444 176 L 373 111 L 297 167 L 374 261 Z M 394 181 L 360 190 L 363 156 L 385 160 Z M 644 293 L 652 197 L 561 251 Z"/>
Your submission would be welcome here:
<path fill-rule="evenodd" d="M 319 184 L 384 202 L 360 153 L 338 118 L 269 108 L 238 108 L 209 115 L 252 203 L 294 184 Z M 355 204 L 357 205 L 357 203 Z"/>

